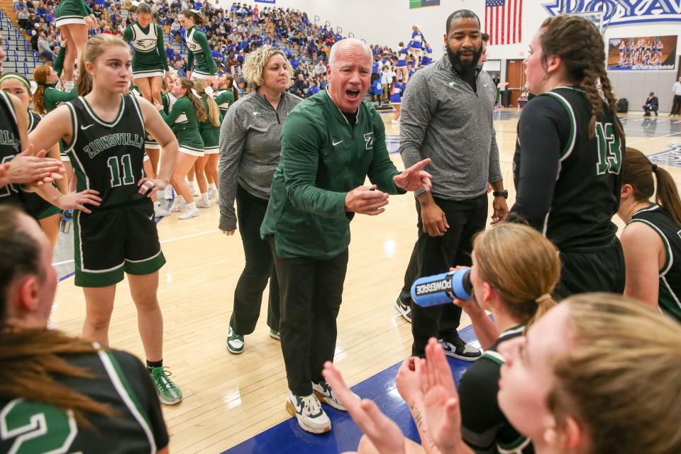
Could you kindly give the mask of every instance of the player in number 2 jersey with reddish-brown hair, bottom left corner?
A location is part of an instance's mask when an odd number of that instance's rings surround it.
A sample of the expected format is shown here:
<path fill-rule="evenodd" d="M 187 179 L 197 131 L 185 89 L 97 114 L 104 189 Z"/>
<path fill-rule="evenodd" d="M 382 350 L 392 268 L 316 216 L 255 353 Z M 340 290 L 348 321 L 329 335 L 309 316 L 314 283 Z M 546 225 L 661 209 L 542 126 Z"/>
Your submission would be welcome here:
<path fill-rule="evenodd" d="M 0 218 L 0 453 L 167 453 L 144 366 L 45 328 L 52 245 L 15 207 L 0 206 Z"/>

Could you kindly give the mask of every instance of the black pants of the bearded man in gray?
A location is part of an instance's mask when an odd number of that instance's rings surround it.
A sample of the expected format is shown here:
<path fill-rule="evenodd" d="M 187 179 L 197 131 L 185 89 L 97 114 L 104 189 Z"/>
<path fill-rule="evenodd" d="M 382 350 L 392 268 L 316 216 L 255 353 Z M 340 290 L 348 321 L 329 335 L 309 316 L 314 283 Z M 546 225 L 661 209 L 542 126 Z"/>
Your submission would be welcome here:
<path fill-rule="evenodd" d="M 411 304 L 411 334 L 414 337 L 411 354 L 421 358 L 425 355 L 429 338 L 435 336 L 451 341 L 458 337 L 461 308 L 454 304 L 421 307 L 411 301 L 411 284 L 419 277 L 447 272 L 455 265 L 472 265 L 473 236 L 485 230 L 487 221 L 487 194 L 469 200 L 433 199 L 444 211 L 449 228 L 443 236 L 430 236 L 424 232 L 421 204 L 416 201 L 419 239 L 411 253 L 400 292 L 402 302 Z"/>

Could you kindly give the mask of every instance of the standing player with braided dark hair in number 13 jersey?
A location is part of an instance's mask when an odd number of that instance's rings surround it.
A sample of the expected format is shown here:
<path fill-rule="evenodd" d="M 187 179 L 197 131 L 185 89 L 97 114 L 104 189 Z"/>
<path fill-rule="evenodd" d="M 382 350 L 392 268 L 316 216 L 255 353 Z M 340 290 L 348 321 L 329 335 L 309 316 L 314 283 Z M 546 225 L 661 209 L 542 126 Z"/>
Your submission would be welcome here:
<path fill-rule="evenodd" d="M 583 51 L 585 43 L 592 52 Z M 603 49 L 593 23 L 556 16 L 544 21 L 525 60 L 528 89 L 539 96 L 518 124 L 511 212 L 560 250 L 556 291 L 563 297 L 624 291 L 624 255 L 611 222 L 619 206 L 624 132 L 614 115 Z"/>

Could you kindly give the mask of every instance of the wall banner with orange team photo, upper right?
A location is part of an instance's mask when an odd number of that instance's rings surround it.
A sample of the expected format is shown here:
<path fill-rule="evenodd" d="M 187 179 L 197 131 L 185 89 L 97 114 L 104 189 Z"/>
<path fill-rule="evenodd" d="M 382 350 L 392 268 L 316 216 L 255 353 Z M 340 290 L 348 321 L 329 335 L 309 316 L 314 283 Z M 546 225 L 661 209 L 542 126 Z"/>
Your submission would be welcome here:
<path fill-rule="evenodd" d="M 611 38 L 609 71 L 655 71 L 676 68 L 677 36 Z"/>

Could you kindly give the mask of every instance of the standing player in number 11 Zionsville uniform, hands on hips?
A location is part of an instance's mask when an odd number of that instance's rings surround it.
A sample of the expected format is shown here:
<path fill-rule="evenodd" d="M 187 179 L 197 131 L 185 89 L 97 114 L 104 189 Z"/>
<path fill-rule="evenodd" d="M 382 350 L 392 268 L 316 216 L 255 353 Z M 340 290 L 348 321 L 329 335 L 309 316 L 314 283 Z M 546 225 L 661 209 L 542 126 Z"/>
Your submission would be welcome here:
<path fill-rule="evenodd" d="M 81 96 L 45 116 L 29 140 L 38 149 L 64 140 L 77 187 L 99 194 L 92 209 L 74 214 L 75 284 L 84 287 L 87 309 L 83 337 L 109 343 L 116 284 L 127 274 L 156 392 L 161 402 L 177 404 L 182 392 L 162 365 L 163 318 L 156 291 L 165 258 L 149 199 L 165 189 L 177 140 L 149 101 L 123 94 L 130 66 L 125 41 L 94 35 L 79 65 Z M 159 179 L 143 175 L 145 129 L 164 150 Z"/>

